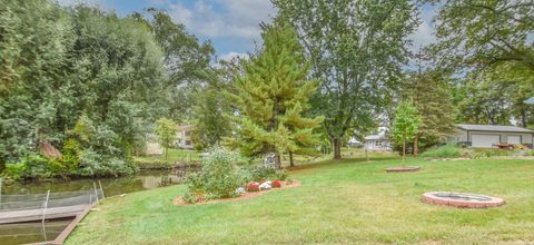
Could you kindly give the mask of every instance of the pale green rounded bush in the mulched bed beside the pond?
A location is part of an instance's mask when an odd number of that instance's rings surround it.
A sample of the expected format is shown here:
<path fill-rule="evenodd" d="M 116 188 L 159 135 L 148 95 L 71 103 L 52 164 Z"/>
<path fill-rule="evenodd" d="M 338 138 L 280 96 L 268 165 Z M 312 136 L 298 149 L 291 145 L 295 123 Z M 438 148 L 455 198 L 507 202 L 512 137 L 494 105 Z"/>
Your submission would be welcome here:
<path fill-rule="evenodd" d="M 235 197 L 236 189 L 245 183 L 236 163 L 238 155 L 221 147 L 211 148 L 202 158 L 202 168 L 186 179 L 186 202 Z"/>

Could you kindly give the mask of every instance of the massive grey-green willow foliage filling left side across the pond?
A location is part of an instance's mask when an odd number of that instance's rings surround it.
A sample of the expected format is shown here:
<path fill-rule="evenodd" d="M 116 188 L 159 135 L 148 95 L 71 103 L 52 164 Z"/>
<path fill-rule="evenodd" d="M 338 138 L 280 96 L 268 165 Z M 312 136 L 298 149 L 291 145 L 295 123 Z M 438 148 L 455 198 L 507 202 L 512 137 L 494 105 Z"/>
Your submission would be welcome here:
<path fill-rule="evenodd" d="M 179 84 L 207 79 L 214 52 L 167 13 L 150 13 L 2 1 L 0 169 L 36 155 L 43 139 L 66 147 L 67 158 L 51 164 L 61 176 L 79 174 L 78 164 L 83 175 L 134 170 L 130 155 L 142 148 L 149 126 L 174 116 Z M 70 138 L 79 149 L 69 148 Z"/>

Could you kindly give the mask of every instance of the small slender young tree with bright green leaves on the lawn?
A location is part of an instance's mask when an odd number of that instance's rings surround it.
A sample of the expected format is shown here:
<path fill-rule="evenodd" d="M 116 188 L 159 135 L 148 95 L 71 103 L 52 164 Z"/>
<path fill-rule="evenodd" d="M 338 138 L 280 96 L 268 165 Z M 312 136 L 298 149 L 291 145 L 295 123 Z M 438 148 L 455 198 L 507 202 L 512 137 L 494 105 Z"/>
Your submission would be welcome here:
<path fill-rule="evenodd" d="M 406 143 L 414 139 L 421 125 L 421 116 L 417 108 L 409 101 L 403 101 L 395 111 L 392 136 L 397 143 L 403 144 L 403 159 L 406 155 Z"/>

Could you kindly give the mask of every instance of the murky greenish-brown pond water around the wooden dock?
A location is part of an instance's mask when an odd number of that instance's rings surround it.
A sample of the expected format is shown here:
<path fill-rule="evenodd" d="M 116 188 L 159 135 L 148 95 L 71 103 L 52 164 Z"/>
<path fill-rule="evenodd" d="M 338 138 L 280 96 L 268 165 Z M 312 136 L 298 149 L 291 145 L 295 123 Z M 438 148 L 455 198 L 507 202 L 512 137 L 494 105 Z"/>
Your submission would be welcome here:
<path fill-rule="evenodd" d="M 146 170 L 137 176 L 120 178 L 99 178 L 99 179 L 71 179 L 71 180 L 50 180 L 50 182 L 30 182 L 14 183 L 12 185 L 2 185 L 2 195 L 12 194 L 42 194 L 50 189 L 51 193 L 88 190 L 92 189 L 99 182 L 106 197 L 120 194 L 139 192 L 144 189 L 154 189 L 161 186 L 180 184 L 185 180 L 185 173 L 176 174 L 170 170 Z M 24 244 L 38 243 L 55 239 L 71 219 L 49 220 L 44 224 L 22 223 L 0 225 L 0 244 Z"/>

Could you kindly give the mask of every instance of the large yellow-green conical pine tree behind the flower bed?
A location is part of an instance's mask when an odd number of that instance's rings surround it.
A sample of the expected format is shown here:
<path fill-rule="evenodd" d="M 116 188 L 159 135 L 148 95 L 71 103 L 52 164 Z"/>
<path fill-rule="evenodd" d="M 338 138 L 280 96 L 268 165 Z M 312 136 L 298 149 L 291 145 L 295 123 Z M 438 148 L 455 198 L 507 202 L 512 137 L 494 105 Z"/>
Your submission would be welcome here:
<path fill-rule="evenodd" d="M 263 49 L 236 77 L 230 94 L 236 107 L 231 115 L 236 134 L 226 141 L 246 156 L 273 153 L 280 168 L 280 155 L 308 153 L 318 143 L 314 128 L 323 117 L 303 116 L 318 81 L 306 78 L 310 66 L 289 24 L 277 19 L 263 26 L 261 37 Z"/>

